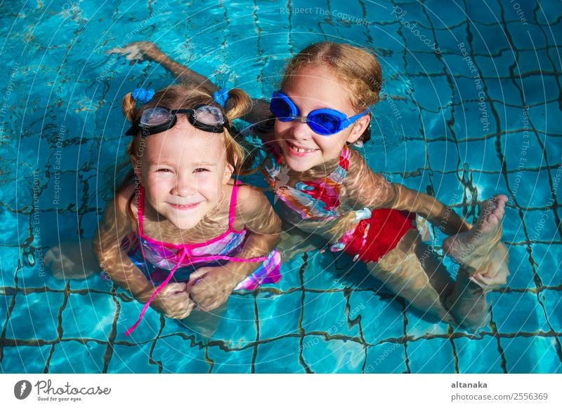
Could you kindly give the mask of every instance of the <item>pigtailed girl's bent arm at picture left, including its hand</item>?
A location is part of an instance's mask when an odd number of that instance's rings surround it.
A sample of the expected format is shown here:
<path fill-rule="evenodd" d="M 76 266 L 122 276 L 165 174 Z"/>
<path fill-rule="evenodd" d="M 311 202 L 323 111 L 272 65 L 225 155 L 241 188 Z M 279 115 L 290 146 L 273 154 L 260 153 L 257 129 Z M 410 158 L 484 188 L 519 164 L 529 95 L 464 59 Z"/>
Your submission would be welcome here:
<path fill-rule="evenodd" d="M 145 303 L 155 291 L 155 287 L 121 247 L 123 238 L 133 231 L 131 219 L 126 214 L 129 196 L 133 191 L 134 186 L 128 186 L 117 194 L 115 200 L 107 204 L 105 215 L 93 239 L 93 247 L 103 271 L 117 285 L 129 290 L 133 297 Z M 169 318 L 181 319 L 190 314 L 195 304 L 185 292 L 185 283 L 171 283 L 159 292 L 150 306 L 162 311 Z"/>

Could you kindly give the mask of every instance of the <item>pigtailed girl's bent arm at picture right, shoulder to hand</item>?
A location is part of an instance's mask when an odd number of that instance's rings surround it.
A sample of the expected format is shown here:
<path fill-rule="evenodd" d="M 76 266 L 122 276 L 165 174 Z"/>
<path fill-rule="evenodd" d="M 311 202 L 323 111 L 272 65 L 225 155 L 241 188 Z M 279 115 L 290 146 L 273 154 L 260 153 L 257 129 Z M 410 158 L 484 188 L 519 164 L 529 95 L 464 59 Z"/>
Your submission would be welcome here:
<path fill-rule="evenodd" d="M 235 229 L 246 228 L 249 236 L 238 258 L 249 259 L 269 254 L 280 240 L 281 220 L 266 196 L 250 186 L 238 189 Z M 236 285 L 253 273 L 261 262 L 230 261 L 225 266 L 199 268 L 190 275 L 190 294 L 204 311 L 221 306 Z M 195 283 L 197 280 L 199 282 Z"/>

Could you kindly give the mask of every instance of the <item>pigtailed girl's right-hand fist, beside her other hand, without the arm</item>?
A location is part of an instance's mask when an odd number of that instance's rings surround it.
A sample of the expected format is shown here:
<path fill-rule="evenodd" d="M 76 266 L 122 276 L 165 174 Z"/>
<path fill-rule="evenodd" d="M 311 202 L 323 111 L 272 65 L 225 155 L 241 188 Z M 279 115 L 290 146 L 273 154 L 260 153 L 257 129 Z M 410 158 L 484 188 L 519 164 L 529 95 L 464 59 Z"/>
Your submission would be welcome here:
<path fill-rule="evenodd" d="M 240 280 L 225 266 L 199 268 L 189 277 L 188 292 L 200 310 L 212 311 L 226 302 Z"/>

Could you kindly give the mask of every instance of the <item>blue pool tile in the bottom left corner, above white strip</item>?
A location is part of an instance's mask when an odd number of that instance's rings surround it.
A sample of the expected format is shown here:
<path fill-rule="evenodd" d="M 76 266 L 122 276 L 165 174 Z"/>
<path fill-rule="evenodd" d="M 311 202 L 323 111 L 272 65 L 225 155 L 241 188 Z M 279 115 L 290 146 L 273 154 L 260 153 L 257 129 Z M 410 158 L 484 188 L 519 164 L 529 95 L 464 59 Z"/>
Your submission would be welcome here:
<path fill-rule="evenodd" d="M 0 372 L 42 373 L 47 364 L 51 346 L 12 346 L 2 349 L 4 357 L 0 362 Z"/>

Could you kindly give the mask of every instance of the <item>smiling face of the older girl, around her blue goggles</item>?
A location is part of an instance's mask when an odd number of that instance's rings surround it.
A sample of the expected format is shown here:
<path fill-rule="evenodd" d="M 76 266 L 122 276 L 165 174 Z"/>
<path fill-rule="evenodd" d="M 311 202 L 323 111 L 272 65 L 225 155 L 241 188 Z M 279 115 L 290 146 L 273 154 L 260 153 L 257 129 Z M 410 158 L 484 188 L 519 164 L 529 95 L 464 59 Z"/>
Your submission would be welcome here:
<path fill-rule="evenodd" d="M 299 69 L 282 91 L 294 102 L 300 116 L 322 108 L 340 111 L 347 117 L 358 114 L 351 105 L 348 88 L 324 65 Z M 353 125 L 330 136 L 318 135 L 300 121 L 275 121 L 275 139 L 289 168 L 303 172 L 338 158 L 346 142 L 358 140 L 369 121 L 369 115 L 362 116 Z"/>

